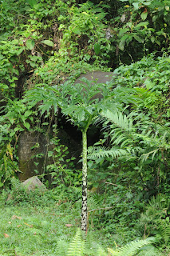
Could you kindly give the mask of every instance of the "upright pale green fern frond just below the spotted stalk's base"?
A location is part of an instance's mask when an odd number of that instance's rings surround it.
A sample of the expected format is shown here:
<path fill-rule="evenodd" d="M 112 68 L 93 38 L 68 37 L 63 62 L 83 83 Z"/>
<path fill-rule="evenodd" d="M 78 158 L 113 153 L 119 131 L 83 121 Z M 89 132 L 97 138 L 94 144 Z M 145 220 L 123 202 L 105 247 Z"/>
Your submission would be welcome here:
<path fill-rule="evenodd" d="M 81 229 L 77 230 L 75 237 L 69 244 L 67 256 L 83 256 L 85 250 L 85 241 L 81 236 Z"/>

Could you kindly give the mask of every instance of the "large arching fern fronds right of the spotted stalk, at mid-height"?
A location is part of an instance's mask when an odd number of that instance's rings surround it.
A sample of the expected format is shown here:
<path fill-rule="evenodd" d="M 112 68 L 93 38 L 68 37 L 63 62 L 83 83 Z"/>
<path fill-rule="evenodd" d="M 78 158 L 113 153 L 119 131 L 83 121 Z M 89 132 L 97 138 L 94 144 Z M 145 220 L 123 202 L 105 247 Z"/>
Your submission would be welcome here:
<path fill-rule="evenodd" d="M 148 121 L 144 113 L 133 111 L 126 115 L 120 110 L 102 110 L 96 122 L 102 122 L 107 128 L 105 138 L 110 138 L 111 147 L 91 147 L 89 158 L 127 155 L 142 163 L 148 157 L 153 160 L 157 152 L 170 149 L 169 129 Z"/>

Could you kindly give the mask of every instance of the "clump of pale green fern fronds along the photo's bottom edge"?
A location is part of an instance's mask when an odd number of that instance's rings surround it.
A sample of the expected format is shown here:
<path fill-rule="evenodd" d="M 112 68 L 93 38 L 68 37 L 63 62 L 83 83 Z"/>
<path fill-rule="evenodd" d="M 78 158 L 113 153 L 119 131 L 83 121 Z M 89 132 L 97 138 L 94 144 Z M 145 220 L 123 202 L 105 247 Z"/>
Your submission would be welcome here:
<path fill-rule="evenodd" d="M 77 230 L 72 242 L 65 242 L 59 239 L 57 241 L 58 256 L 158 256 L 159 253 L 152 243 L 156 242 L 156 238 L 146 238 L 145 240 L 137 240 L 122 246 L 121 249 L 113 250 L 108 248 L 108 253 L 99 245 L 93 237 L 93 233 L 82 232 Z"/>

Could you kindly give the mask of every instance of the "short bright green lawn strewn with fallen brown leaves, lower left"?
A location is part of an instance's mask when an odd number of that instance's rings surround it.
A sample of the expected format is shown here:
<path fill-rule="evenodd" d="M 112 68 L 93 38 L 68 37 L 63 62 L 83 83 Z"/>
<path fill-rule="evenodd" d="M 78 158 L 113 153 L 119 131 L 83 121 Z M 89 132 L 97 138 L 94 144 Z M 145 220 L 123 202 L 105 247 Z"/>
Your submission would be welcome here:
<path fill-rule="evenodd" d="M 49 251 L 55 254 L 58 238 L 70 241 L 77 230 L 71 206 L 68 209 L 66 213 L 57 206 L 6 207 L 0 217 L 0 252 L 15 250 L 21 256 L 49 255 Z"/>

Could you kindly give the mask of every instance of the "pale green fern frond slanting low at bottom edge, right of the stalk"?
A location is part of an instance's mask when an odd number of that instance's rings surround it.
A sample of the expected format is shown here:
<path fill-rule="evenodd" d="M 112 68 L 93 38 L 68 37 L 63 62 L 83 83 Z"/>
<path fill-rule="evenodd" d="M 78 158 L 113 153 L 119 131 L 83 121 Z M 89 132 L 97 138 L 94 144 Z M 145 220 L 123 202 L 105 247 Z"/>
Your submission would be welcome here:
<path fill-rule="evenodd" d="M 137 251 L 152 242 L 155 242 L 155 238 L 147 238 L 145 240 L 132 241 L 128 245 L 121 247 L 120 250 L 108 249 L 109 253 L 113 256 L 133 256 L 136 255 Z"/>

